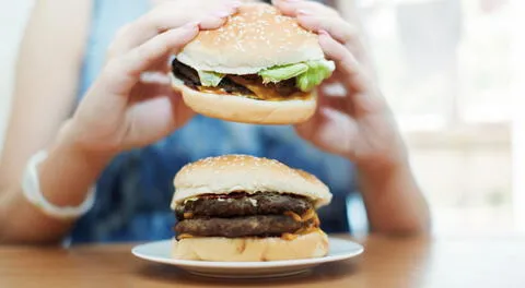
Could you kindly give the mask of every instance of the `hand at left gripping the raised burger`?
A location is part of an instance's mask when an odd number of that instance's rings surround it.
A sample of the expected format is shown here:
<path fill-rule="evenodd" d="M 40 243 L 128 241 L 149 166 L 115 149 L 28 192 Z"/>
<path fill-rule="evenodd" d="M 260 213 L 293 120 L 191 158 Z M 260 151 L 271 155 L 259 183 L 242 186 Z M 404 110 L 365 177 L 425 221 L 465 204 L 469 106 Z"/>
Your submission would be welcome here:
<path fill-rule="evenodd" d="M 168 58 L 200 29 L 218 28 L 238 2 L 166 1 L 116 35 L 100 76 L 62 135 L 85 152 L 117 154 L 154 143 L 185 124 L 192 111 L 170 84 Z M 154 83 L 144 72 L 161 72 Z"/>

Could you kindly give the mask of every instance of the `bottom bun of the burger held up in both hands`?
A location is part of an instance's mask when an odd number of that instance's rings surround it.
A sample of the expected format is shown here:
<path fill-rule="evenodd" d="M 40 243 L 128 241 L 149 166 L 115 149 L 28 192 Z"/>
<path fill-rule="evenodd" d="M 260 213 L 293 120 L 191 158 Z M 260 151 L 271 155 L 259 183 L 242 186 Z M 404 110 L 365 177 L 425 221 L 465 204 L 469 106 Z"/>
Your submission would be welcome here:
<path fill-rule="evenodd" d="M 184 103 L 194 111 L 226 121 L 253 124 L 292 124 L 308 120 L 315 112 L 315 91 L 305 99 L 257 100 L 236 95 L 219 95 L 195 91 L 172 75 L 173 87 L 183 94 Z"/>

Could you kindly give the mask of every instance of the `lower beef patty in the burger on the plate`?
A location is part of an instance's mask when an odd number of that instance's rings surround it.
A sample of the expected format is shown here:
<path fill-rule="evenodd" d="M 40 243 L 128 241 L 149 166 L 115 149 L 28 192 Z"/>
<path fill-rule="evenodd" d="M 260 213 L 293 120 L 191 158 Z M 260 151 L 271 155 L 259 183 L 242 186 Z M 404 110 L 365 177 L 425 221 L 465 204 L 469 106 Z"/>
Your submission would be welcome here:
<path fill-rule="evenodd" d="M 198 237 L 276 237 L 310 227 L 314 219 L 296 221 L 285 215 L 257 215 L 236 218 L 197 218 L 179 221 L 175 231 Z"/>

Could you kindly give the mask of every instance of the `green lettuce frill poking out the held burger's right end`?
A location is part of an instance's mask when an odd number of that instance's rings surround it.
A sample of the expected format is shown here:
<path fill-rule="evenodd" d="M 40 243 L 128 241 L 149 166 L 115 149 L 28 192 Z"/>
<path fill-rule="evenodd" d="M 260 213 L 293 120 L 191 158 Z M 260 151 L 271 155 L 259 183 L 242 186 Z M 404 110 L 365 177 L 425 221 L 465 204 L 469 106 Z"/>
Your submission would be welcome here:
<path fill-rule="evenodd" d="M 296 85 L 302 92 L 310 92 L 329 77 L 336 65 L 332 61 L 308 61 L 308 70 L 298 76 Z"/>

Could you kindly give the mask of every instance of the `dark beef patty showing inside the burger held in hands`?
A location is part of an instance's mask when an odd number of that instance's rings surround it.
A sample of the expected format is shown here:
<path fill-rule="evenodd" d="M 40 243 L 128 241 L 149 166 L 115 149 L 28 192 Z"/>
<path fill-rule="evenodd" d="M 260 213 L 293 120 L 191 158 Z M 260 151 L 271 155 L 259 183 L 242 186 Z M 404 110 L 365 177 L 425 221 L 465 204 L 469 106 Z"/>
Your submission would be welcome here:
<path fill-rule="evenodd" d="M 197 71 L 189 65 L 186 65 L 185 63 L 178 61 L 177 59 L 174 59 L 172 62 L 172 72 L 173 74 L 179 79 L 180 81 L 184 82 L 184 85 L 197 89 L 198 87 L 201 86 L 199 74 Z M 262 80 L 260 76 L 256 74 L 249 74 L 249 75 L 225 75 L 221 82 L 219 83 L 219 88 L 222 88 L 224 92 L 229 94 L 238 94 L 238 95 L 245 95 L 245 96 L 255 96 L 255 93 L 252 92 L 249 88 L 245 87 L 244 85 L 237 83 L 234 81 L 234 79 L 242 77 L 248 83 L 255 84 L 255 83 L 261 83 Z M 296 92 L 299 92 L 299 88 L 295 86 L 295 79 L 289 79 L 285 81 L 281 81 L 278 83 L 267 83 L 265 84 L 267 87 L 270 87 L 277 93 L 279 93 L 281 96 L 290 96 Z"/>

